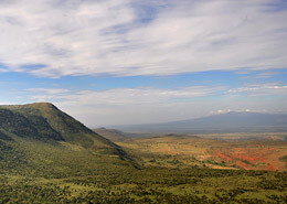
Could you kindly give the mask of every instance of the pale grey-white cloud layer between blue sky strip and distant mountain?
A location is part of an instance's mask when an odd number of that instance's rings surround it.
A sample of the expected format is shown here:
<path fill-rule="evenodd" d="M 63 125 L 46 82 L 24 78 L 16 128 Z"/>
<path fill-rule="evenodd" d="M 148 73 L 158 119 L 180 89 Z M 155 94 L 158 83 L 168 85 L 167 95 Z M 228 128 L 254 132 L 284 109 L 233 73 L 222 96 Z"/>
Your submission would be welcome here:
<path fill-rule="evenodd" d="M 241 97 L 236 94 L 221 95 L 224 87 L 213 86 L 79 92 L 36 88 L 28 92 L 33 93 L 31 100 L 54 103 L 62 110 L 91 127 L 173 121 L 248 109 L 287 112 L 283 99 L 264 100 L 258 97 Z"/>

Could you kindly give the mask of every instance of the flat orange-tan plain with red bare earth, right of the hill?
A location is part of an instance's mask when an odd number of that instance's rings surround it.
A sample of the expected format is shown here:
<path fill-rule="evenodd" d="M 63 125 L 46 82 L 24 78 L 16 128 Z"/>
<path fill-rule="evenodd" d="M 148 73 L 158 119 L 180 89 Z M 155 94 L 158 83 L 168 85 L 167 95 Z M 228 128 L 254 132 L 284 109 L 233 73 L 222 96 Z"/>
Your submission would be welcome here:
<path fill-rule="evenodd" d="M 169 135 L 117 143 L 145 167 L 286 171 L 281 158 L 287 155 L 287 142 L 281 140 L 224 141 Z"/>

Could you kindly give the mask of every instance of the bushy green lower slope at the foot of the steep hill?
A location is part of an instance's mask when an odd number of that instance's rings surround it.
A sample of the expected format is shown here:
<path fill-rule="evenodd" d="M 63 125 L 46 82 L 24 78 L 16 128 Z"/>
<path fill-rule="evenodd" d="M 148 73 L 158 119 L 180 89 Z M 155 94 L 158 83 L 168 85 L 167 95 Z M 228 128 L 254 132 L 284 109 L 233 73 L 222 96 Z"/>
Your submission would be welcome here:
<path fill-rule="evenodd" d="M 103 154 L 65 141 L 10 136 L 0 140 L 0 170 L 26 178 L 60 179 L 96 175 L 107 169 L 132 168 L 117 155 Z"/>

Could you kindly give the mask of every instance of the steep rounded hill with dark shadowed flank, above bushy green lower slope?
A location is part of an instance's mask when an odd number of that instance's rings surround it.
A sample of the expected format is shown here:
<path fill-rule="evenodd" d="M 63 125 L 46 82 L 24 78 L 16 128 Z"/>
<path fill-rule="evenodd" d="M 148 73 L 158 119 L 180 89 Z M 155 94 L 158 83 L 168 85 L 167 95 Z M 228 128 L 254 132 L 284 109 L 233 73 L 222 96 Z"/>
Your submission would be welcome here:
<path fill-rule="evenodd" d="M 49 103 L 1 106 L 0 130 L 2 135 L 66 141 L 102 153 L 125 154 L 118 146 Z"/>

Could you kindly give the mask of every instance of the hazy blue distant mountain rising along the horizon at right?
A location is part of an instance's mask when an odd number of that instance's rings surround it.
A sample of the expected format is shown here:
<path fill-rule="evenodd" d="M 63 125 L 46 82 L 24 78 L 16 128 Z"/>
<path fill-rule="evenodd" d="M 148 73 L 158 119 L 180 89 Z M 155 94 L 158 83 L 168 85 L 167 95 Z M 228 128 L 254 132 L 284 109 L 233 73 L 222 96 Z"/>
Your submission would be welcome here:
<path fill-rule="evenodd" d="M 279 132 L 287 131 L 287 115 L 232 111 L 196 119 L 113 128 L 152 133 Z"/>

